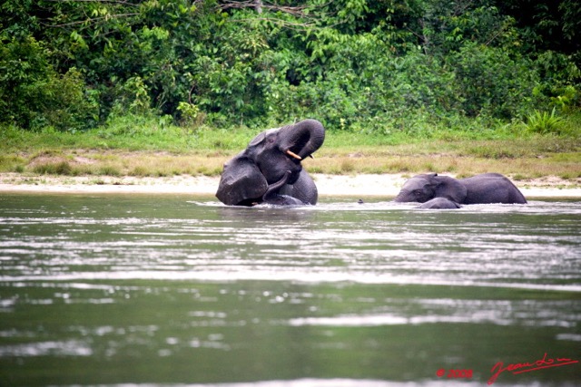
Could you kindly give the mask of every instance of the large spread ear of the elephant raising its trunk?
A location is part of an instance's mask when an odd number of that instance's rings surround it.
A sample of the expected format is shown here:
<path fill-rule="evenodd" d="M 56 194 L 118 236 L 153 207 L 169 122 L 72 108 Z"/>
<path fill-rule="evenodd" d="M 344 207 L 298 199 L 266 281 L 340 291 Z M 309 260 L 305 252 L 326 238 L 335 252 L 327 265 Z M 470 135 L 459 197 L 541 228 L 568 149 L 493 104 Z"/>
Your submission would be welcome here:
<path fill-rule="evenodd" d="M 254 161 L 243 154 L 224 165 L 216 198 L 228 206 L 251 206 L 260 202 L 268 183 Z"/>

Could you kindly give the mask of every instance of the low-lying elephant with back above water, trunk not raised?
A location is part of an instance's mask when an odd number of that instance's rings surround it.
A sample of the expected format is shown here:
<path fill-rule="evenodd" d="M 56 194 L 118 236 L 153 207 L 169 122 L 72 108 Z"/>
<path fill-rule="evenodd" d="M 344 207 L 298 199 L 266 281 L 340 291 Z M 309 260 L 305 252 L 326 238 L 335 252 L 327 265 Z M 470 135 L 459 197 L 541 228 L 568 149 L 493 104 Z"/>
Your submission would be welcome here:
<path fill-rule="evenodd" d="M 449 202 L 438 200 L 430 203 L 434 198 L 445 198 Z M 499 173 L 483 173 L 468 179 L 438 176 L 437 173 L 414 176 L 406 181 L 394 201 L 424 203 L 422 208 L 452 208 L 454 204 L 527 203 L 517 187 Z"/>

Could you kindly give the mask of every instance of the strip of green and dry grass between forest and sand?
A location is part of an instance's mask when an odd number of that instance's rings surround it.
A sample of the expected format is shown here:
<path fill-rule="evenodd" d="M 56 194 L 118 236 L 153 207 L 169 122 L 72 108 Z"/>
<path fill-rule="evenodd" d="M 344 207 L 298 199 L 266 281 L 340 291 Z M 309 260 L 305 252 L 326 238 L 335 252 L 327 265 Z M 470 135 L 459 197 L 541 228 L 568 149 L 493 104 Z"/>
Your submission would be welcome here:
<path fill-rule="evenodd" d="M 581 118 L 566 136 L 527 131 L 522 124 L 495 130 L 365 134 L 328 131 L 315 173 L 420 173 L 469 176 L 497 171 L 513 179 L 581 179 Z M 257 131 L 184 129 L 158 119 L 124 118 L 82 133 L 2 128 L 0 172 L 28 175 L 217 176 L 223 163 Z"/>

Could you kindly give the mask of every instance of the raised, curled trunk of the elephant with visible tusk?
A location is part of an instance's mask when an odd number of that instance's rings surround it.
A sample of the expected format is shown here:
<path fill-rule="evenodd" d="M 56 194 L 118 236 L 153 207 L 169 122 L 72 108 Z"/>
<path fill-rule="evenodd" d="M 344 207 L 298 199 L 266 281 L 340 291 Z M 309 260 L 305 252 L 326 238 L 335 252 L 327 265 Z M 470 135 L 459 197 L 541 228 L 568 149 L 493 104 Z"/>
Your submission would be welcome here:
<path fill-rule="evenodd" d="M 319 150 L 325 140 L 325 128 L 317 120 L 304 120 L 281 128 L 279 149 L 291 157 L 302 160 Z"/>

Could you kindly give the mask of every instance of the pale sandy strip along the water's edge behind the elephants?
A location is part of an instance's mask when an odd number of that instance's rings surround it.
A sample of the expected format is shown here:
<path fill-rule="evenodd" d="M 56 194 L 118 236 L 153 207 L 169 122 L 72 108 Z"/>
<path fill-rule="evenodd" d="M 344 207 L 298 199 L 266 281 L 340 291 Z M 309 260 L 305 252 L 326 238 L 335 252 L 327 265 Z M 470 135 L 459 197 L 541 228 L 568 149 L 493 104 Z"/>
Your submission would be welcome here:
<path fill-rule="evenodd" d="M 324 196 L 381 196 L 393 197 L 409 179 L 409 175 L 320 175 L 313 179 Z M 57 177 L 0 174 L 2 192 L 59 192 L 59 193 L 156 193 L 213 195 L 219 177 L 174 176 L 171 178 L 135 177 Z M 581 198 L 579 182 L 556 177 L 515 181 L 529 198 Z"/>

